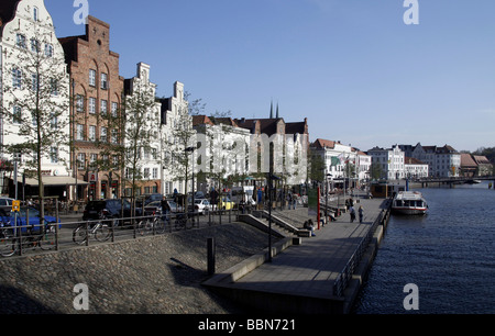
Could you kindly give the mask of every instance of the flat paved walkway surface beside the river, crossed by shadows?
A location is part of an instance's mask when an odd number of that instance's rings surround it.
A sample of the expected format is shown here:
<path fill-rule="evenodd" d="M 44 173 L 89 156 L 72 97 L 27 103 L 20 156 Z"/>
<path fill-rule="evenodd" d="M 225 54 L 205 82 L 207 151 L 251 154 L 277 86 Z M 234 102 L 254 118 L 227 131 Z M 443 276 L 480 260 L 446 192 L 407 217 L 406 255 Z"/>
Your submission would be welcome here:
<path fill-rule="evenodd" d="M 332 298 L 334 280 L 382 212 L 383 201 L 360 200 L 355 209 L 363 205 L 363 224 L 359 220 L 350 223 L 350 214 L 345 213 L 337 222 L 316 231 L 316 237 L 304 238 L 302 245 L 292 246 L 274 257 L 272 262 L 257 267 L 231 283 L 231 287 L 308 298 Z"/>

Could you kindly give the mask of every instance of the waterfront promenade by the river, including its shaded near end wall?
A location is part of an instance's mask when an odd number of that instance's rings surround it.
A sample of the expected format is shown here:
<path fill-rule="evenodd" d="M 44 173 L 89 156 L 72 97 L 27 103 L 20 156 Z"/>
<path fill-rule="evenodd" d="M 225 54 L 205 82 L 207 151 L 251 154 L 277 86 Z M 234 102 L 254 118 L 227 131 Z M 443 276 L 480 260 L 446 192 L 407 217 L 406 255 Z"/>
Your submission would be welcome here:
<path fill-rule="evenodd" d="M 350 214 L 344 213 L 337 222 L 317 229 L 315 237 L 302 238 L 301 245 L 290 246 L 242 278 L 232 281 L 226 275 L 218 275 L 208 283 L 231 299 L 262 311 L 346 312 L 351 304 L 349 291 L 336 295 L 334 283 L 385 209 L 383 199 L 360 199 L 356 211 L 360 205 L 364 208 L 362 224 L 359 216 L 350 223 Z M 304 212 L 307 216 L 307 209 L 284 211 L 284 215 L 300 219 Z"/>

